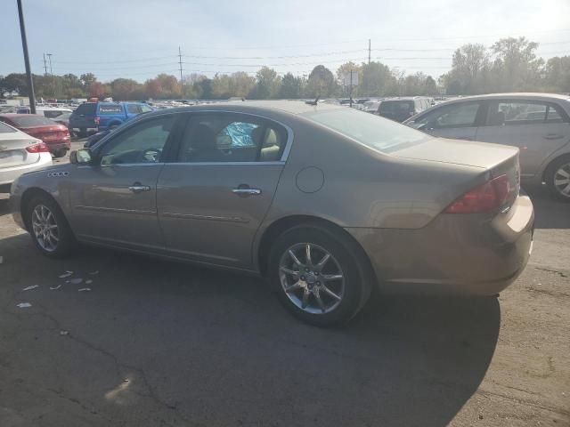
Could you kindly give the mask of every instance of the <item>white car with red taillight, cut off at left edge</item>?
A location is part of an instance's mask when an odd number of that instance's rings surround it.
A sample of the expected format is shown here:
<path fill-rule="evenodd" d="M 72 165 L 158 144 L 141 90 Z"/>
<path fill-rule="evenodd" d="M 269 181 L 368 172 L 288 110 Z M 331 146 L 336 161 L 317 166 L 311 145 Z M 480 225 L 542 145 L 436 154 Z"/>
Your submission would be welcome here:
<path fill-rule="evenodd" d="M 49 165 L 52 155 L 44 142 L 0 122 L 0 192 L 10 192 L 20 174 Z"/>

